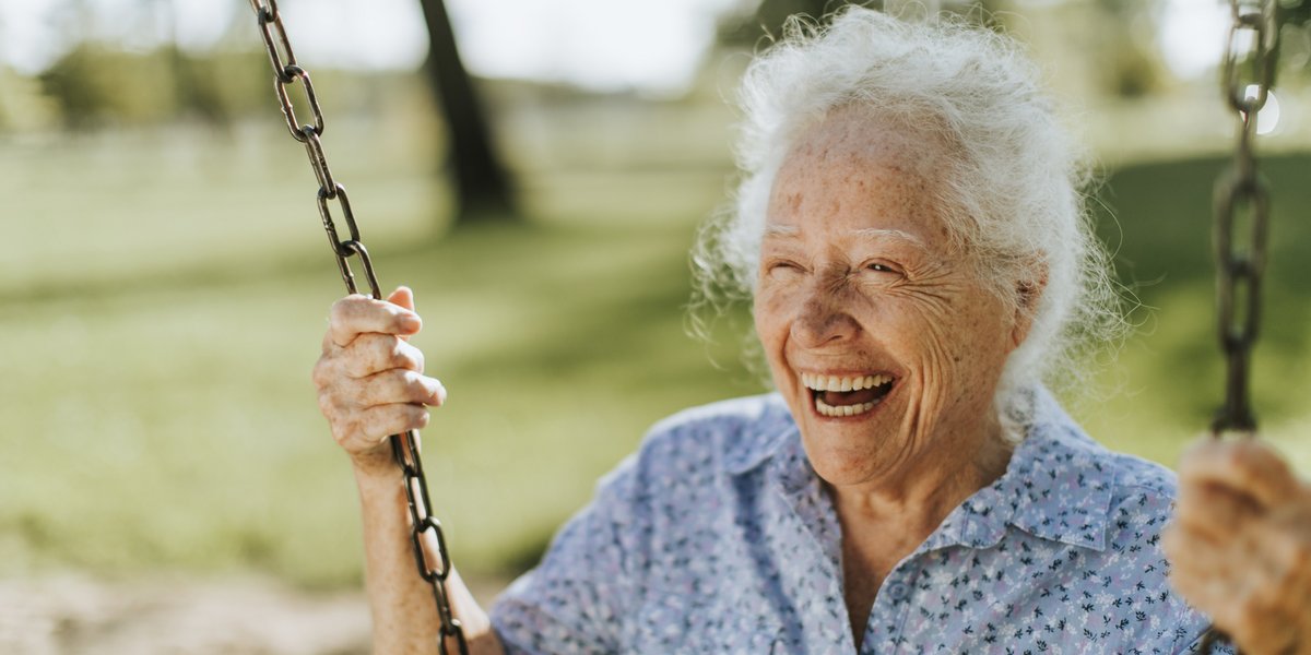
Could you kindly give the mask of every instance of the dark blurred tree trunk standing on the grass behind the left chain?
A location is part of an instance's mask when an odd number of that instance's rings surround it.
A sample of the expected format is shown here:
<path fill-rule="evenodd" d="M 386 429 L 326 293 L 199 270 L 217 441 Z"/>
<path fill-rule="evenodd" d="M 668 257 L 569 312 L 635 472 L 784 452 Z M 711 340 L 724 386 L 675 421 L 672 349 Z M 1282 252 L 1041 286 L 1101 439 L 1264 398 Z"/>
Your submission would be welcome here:
<path fill-rule="evenodd" d="M 454 176 L 455 221 L 513 219 L 510 176 L 492 145 L 492 134 L 460 51 L 443 0 L 420 0 L 427 24 L 425 71 L 450 131 L 448 165 Z"/>

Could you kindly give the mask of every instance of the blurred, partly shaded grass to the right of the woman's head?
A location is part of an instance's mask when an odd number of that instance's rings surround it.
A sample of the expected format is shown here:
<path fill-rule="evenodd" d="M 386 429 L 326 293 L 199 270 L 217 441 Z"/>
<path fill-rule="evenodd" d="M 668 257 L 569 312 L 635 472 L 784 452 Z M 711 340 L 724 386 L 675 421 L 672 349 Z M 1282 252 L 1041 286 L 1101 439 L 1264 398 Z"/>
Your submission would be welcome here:
<path fill-rule="evenodd" d="M 1113 448 L 1173 462 L 1223 398 L 1215 337 L 1211 185 L 1221 159 L 1126 166 L 1100 193 L 1100 232 L 1142 307 L 1139 325 L 1080 417 Z M 1311 157 L 1261 160 L 1274 191 L 1264 321 L 1253 355 L 1253 403 L 1265 436 L 1311 470 L 1311 225 L 1302 219 Z"/>

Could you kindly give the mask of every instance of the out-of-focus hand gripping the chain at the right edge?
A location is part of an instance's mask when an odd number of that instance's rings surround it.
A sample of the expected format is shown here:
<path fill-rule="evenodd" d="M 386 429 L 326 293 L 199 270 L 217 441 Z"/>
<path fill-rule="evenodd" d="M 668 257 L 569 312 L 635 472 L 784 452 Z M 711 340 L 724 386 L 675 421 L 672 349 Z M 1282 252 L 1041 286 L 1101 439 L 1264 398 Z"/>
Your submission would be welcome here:
<path fill-rule="evenodd" d="M 1311 490 L 1269 447 L 1194 445 L 1162 545 L 1175 588 L 1244 654 L 1311 654 Z"/>

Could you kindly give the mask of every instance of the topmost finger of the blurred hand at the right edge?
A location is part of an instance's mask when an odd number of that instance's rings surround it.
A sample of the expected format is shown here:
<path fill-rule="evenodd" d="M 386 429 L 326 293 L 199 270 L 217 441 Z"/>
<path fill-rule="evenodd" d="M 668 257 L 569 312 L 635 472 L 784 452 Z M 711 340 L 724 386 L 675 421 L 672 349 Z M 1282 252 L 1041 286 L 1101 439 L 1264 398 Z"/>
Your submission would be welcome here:
<path fill-rule="evenodd" d="M 1228 486 L 1268 508 L 1294 495 L 1298 481 L 1283 458 L 1255 439 L 1206 439 L 1189 448 L 1179 465 L 1180 482 Z"/>

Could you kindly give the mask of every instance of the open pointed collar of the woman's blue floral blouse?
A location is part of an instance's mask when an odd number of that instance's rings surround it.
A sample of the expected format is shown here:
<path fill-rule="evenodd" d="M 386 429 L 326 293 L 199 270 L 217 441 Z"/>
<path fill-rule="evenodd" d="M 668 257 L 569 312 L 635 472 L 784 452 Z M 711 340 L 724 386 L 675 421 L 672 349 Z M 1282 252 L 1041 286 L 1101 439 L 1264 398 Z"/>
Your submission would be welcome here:
<path fill-rule="evenodd" d="M 776 460 L 783 482 L 800 487 L 814 476 L 800 432 L 781 397 L 766 401 L 762 436 L 743 435 L 725 455 L 725 470 L 738 476 Z M 1040 538 L 1104 550 L 1114 486 L 1106 451 L 1042 388 L 1020 392 L 1008 419 L 1025 436 L 1006 473 L 953 510 L 920 549 L 990 548 L 1013 525 Z"/>

